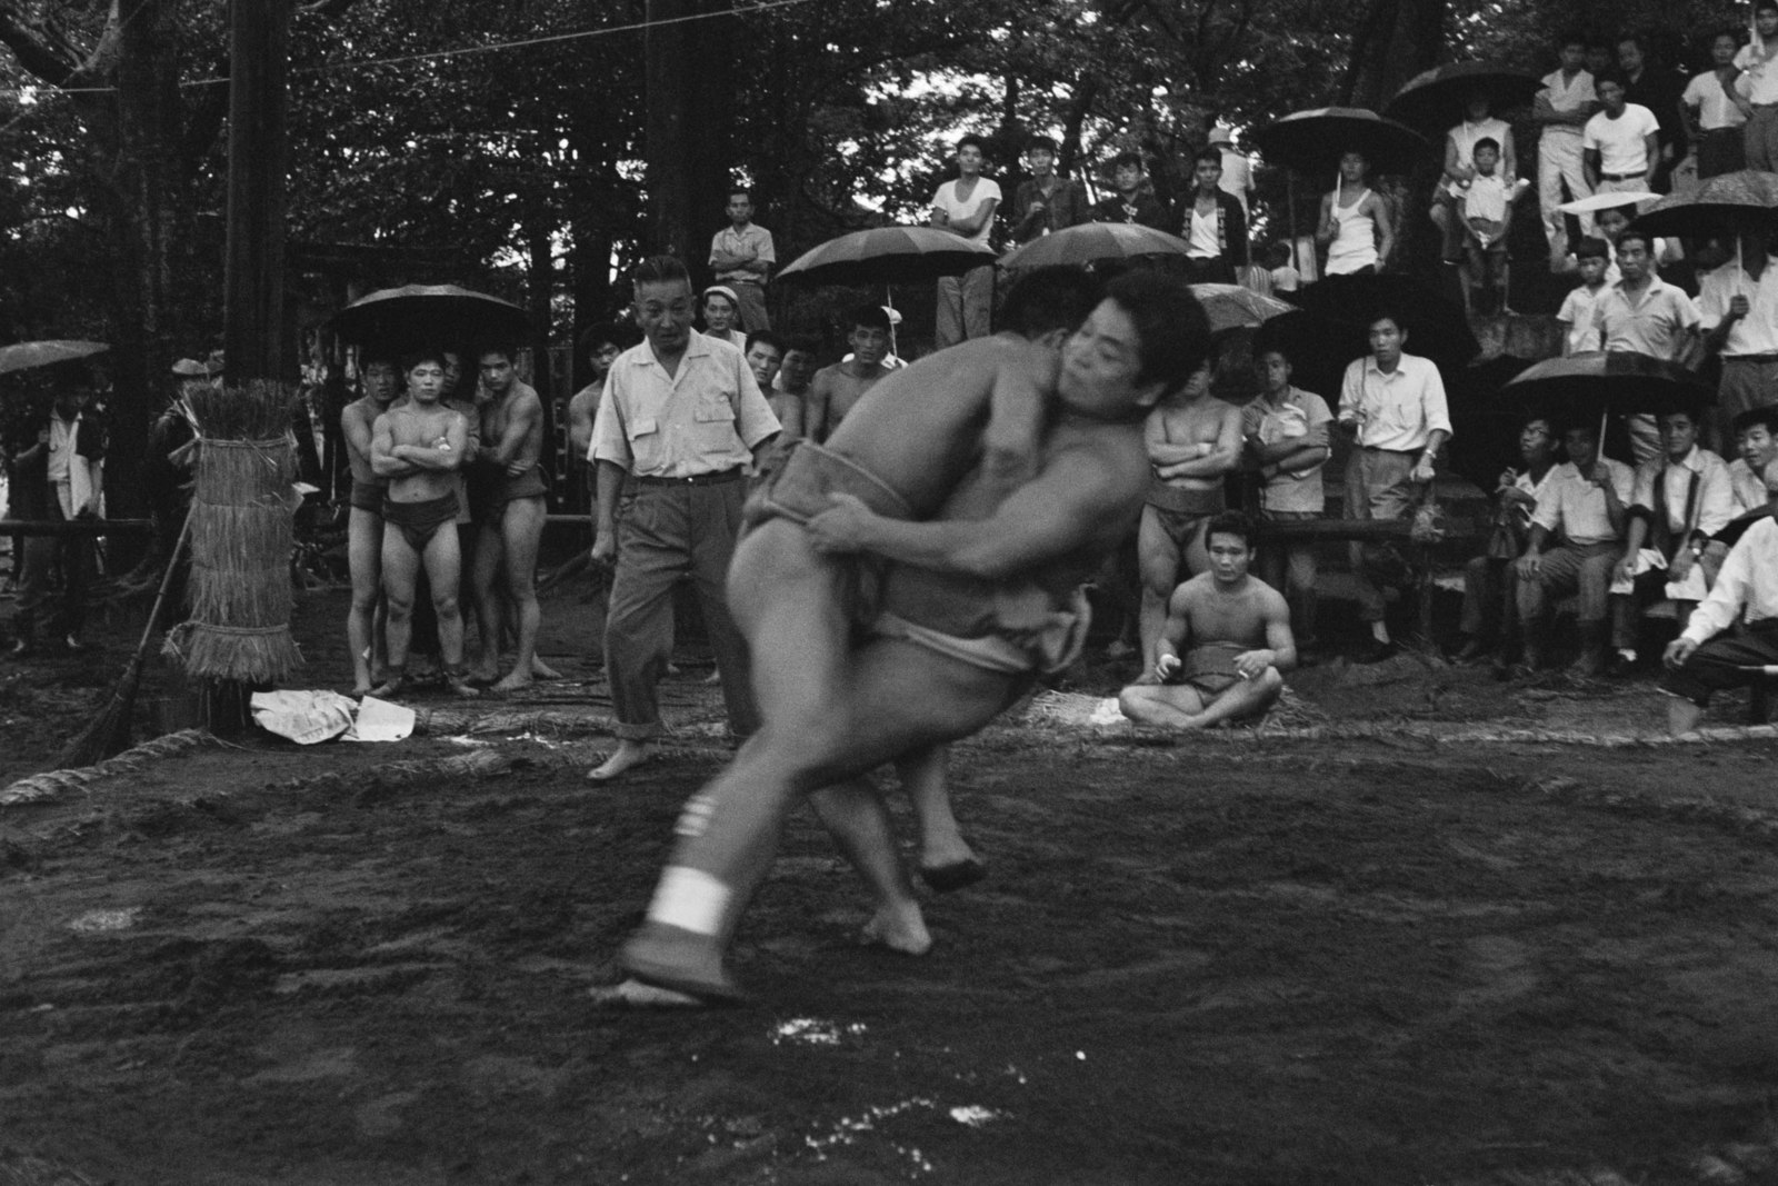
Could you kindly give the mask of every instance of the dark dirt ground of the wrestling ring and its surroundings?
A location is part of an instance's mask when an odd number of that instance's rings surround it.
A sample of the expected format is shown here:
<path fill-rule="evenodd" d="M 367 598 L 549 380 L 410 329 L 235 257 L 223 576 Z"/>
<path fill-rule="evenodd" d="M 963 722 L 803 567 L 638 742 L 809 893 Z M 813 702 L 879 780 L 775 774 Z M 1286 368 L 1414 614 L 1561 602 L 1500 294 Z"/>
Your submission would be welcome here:
<path fill-rule="evenodd" d="M 1771 741 L 1006 722 L 957 750 L 990 878 L 930 902 L 930 957 L 855 944 L 798 816 L 736 950 L 756 1003 L 612 1014 L 587 989 L 720 715 L 683 653 L 670 759 L 585 784 L 587 610 L 546 613 L 569 681 L 485 711 L 549 729 L 249 738 L 0 809 L 0 1182 L 1778 1181 Z M 341 621 L 302 601 L 315 686 L 345 683 Z M 130 635 L 0 672 L 0 788 Z M 1296 686 L 1335 725 L 1662 711 L 1417 656 Z M 466 756 L 489 772 L 389 765 Z"/>

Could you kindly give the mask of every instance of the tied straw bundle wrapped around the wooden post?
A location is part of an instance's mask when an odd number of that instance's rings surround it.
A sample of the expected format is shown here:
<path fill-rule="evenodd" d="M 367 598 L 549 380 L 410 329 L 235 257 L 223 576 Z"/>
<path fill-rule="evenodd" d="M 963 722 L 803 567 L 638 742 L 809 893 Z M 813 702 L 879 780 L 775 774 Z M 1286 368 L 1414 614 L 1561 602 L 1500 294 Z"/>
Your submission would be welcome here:
<path fill-rule="evenodd" d="M 261 381 L 192 397 L 192 617 L 167 637 L 190 677 L 272 685 L 302 663 L 290 637 L 293 400 Z"/>

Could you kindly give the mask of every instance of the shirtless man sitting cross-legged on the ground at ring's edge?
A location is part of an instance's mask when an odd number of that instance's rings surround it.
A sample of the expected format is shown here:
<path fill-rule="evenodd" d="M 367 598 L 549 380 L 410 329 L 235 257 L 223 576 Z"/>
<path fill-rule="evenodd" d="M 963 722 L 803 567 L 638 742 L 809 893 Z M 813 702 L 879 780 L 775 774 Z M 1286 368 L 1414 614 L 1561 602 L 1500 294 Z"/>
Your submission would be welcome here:
<path fill-rule="evenodd" d="M 1168 729 L 1209 729 L 1262 715 L 1296 667 L 1291 608 L 1246 569 L 1253 525 L 1237 510 L 1209 521 L 1209 573 L 1173 590 L 1154 677 L 1118 693 L 1131 720 Z"/>

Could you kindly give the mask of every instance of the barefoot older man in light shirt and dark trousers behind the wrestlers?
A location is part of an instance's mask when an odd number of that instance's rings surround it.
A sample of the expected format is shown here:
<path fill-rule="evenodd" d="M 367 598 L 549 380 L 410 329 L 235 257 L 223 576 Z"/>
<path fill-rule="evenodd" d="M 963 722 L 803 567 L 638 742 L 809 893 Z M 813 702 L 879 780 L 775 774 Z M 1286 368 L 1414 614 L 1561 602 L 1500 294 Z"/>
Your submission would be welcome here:
<path fill-rule="evenodd" d="M 685 263 L 644 260 L 635 308 L 644 341 L 612 365 L 592 427 L 599 468 L 592 558 L 617 564 L 605 622 L 617 750 L 587 773 L 596 782 L 654 756 L 656 683 L 672 656 L 681 574 L 697 585 L 729 727 L 747 736 L 759 725 L 747 645 L 729 617 L 724 581 L 741 528 L 745 466 L 763 461 L 779 421 L 741 352 L 692 329 Z"/>

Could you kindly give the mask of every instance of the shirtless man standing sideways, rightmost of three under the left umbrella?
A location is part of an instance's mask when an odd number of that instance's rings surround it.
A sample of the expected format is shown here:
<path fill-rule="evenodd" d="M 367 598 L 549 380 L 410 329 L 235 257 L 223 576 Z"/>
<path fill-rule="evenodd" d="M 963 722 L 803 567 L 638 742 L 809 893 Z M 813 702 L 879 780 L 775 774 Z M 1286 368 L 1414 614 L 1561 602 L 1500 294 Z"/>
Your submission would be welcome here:
<path fill-rule="evenodd" d="M 482 661 L 477 683 L 500 676 L 500 601 L 494 581 L 501 580 L 507 599 L 517 613 L 519 656 L 496 692 L 523 688 L 533 676 L 557 679 L 557 672 L 537 660 L 537 544 L 544 535 L 544 475 L 537 459 L 544 448 L 544 405 L 530 384 L 512 372 L 512 349 L 482 350 L 482 386 L 494 397 L 482 407 L 482 484 L 485 517 L 475 541 L 475 621 L 482 637 Z"/>

